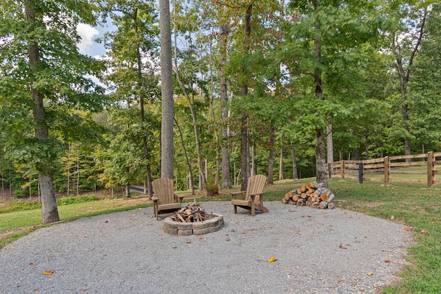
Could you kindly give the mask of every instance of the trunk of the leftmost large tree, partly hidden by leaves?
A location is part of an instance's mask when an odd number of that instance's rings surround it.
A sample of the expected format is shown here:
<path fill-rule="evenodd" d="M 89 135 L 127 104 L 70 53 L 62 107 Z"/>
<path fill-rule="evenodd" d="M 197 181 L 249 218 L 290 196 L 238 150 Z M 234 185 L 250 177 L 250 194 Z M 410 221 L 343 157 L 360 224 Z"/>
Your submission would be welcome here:
<path fill-rule="evenodd" d="M 25 17 L 30 23 L 36 21 L 35 3 L 33 0 L 25 1 Z M 39 45 L 34 40 L 28 40 L 28 57 L 30 63 L 30 92 L 32 102 L 32 114 L 34 117 L 35 138 L 40 142 L 48 140 L 49 129 L 46 123 L 45 109 L 43 105 L 43 94 L 34 88 L 33 82 L 38 72 L 38 63 L 40 61 Z M 47 156 L 41 154 L 45 158 Z M 52 182 L 52 173 L 50 166 L 44 163 L 39 168 L 39 181 L 41 187 L 41 223 L 58 222 L 60 220 L 57 208 L 57 199 Z"/>

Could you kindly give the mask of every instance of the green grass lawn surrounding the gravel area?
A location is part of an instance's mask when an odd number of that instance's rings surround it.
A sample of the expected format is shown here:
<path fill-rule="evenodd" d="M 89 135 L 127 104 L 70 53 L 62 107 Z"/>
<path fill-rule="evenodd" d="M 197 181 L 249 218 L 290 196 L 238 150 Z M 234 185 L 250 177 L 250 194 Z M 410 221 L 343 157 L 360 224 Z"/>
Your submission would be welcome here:
<path fill-rule="evenodd" d="M 280 201 L 287 191 L 312 180 L 268 185 L 264 189 L 264 198 Z M 402 269 L 402 280 L 385 288 L 383 293 L 441 293 L 441 189 L 436 186 L 427 189 L 424 184 L 407 182 L 392 184 L 384 187 L 381 182 L 358 184 L 357 180 L 329 180 L 329 188 L 336 196 L 334 201 L 338 207 L 388 220 L 393 216 L 393 222 L 406 224 L 413 233 L 416 246 L 409 248 L 409 266 Z M 221 191 L 215 199 L 230 200 L 229 192 Z M 193 196 L 185 199 L 193 201 Z M 214 198 L 198 198 L 198 201 L 209 200 Z M 151 204 L 147 198 L 105 199 L 61 205 L 59 215 L 61 221 L 69 221 L 148 205 Z M 38 229 L 40 222 L 40 209 L 0 213 L 0 246 Z"/>

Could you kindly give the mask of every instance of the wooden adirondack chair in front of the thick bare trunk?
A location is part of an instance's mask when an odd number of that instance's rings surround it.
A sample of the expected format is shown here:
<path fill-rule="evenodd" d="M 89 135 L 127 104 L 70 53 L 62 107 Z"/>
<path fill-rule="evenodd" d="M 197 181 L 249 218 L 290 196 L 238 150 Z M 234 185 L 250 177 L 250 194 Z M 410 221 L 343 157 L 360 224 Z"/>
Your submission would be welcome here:
<path fill-rule="evenodd" d="M 170 213 L 181 209 L 184 196 L 174 194 L 173 180 L 170 178 L 157 178 L 152 182 L 154 196 L 153 210 L 156 220 L 160 213 Z M 177 201 L 177 202 L 176 202 Z"/>

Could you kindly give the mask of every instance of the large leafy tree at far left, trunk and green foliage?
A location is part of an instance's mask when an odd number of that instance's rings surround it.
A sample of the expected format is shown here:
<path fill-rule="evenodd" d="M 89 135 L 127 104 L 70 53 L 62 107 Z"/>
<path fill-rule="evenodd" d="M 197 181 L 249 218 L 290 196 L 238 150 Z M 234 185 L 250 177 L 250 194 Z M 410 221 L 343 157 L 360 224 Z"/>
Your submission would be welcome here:
<path fill-rule="evenodd" d="M 51 167 L 57 143 L 51 127 L 63 125 L 59 122 L 69 115 L 61 112 L 60 105 L 101 107 L 100 88 L 85 75 L 99 74 L 103 67 L 76 48 L 80 41 L 76 25 L 94 25 L 93 10 L 83 1 L 75 6 L 45 0 L 2 4 L 1 92 L 11 95 L 13 107 L 30 109 L 34 120 L 34 138 L 23 136 L 24 129 L 18 130 L 17 138 L 23 140 L 15 138 L 18 144 L 10 149 L 10 156 L 32 162 L 39 171 L 43 224 L 59 220 Z M 72 128 L 70 125 L 69 130 Z M 18 149 L 21 153 L 14 152 Z"/>

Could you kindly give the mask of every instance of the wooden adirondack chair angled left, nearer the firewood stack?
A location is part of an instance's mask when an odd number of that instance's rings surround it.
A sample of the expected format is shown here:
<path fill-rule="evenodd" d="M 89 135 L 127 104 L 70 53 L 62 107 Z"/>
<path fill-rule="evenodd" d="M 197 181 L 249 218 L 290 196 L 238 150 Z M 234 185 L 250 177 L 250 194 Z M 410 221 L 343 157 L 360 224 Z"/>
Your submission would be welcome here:
<path fill-rule="evenodd" d="M 247 191 L 239 191 L 232 193 L 234 205 L 234 213 L 237 213 L 237 207 L 251 210 L 251 215 L 256 215 L 256 210 L 262 212 L 268 212 L 268 209 L 263 206 L 262 191 L 267 177 L 263 175 L 250 176 L 248 178 Z M 245 199 L 236 199 L 237 194 L 245 194 Z"/>

